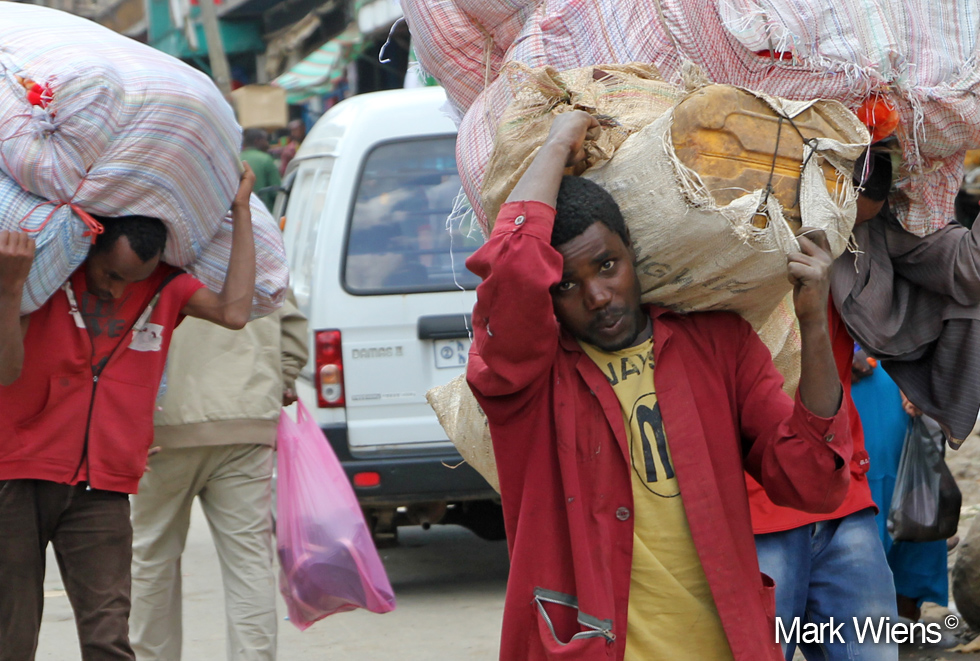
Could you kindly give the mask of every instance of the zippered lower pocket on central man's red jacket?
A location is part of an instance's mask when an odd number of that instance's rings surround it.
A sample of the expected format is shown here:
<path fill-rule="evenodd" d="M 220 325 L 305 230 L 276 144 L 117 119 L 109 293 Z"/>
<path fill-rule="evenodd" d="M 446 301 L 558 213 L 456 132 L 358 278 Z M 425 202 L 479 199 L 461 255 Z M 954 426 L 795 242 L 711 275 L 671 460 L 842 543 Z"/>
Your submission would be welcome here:
<path fill-rule="evenodd" d="M 579 610 L 575 597 L 534 588 L 538 634 L 549 658 L 605 656 L 616 641 L 612 620 L 602 620 Z"/>

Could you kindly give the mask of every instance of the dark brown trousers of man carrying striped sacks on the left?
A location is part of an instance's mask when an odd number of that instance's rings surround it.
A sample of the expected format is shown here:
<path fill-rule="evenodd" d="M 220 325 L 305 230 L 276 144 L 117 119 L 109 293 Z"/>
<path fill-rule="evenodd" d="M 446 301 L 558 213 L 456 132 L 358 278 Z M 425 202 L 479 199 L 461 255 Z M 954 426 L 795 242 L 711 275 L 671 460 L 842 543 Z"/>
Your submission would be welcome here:
<path fill-rule="evenodd" d="M 0 480 L 0 661 L 31 661 L 54 546 L 84 661 L 135 659 L 129 645 L 129 498 L 44 480 Z"/>

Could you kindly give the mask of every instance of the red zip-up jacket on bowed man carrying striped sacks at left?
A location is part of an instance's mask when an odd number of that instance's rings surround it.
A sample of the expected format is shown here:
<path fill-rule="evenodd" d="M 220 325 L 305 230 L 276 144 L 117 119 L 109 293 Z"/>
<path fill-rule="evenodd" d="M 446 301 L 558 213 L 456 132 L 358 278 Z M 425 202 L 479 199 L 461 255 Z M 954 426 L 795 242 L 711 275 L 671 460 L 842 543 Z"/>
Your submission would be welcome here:
<path fill-rule="evenodd" d="M 155 286 L 140 309 L 158 290 L 160 297 L 144 332 L 138 340 L 125 332 L 98 374 L 92 340 L 65 290 L 31 314 L 20 378 L 0 386 L 0 480 L 86 479 L 96 489 L 136 493 L 170 336 L 203 287 L 186 274 L 164 284 L 173 271 L 164 266 L 150 276 Z"/>

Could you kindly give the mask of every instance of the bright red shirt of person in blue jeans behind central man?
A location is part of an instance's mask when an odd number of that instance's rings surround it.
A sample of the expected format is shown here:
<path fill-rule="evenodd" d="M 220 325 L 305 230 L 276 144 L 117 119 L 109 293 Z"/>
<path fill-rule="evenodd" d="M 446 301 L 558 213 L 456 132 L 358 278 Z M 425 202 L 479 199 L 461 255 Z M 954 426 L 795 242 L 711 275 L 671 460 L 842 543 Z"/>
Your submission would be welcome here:
<path fill-rule="evenodd" d="M 757 535 L 792 530 L 817 521 L 842 519 L 868 507 L 874 507 L 877 511 L 877 506 L 871 499 L 871 487 L 868 486 L 870 460 L 867 451 L 864 449 L 864 429 L 861 427 L 861 418 L 858 416 L 857 409 L 854 408 L 854 401 L 851 399 L 851 363 L 854 359 L 854 340 L 851 339 L 844 327 L 844 322 L 833 303 L 830 304 L 828 316 L 834 362 L 837 363 L 837 373 L 844 385 L 844 402 L 847 405 L 847 410 L 851 412 L 848 422 L 851 428 L 853 451 L 850 464 L 851 484 L 847 489 L 847 497 L 844 498 L 841 506 L 830 514 L 801 512 L 775 505 L 766 497 L 766 493 L 759 486 L 759 483 L 746 473 L 745 482 L 749 490 L 749 506 L 752 509 L 752 529 Z"/>

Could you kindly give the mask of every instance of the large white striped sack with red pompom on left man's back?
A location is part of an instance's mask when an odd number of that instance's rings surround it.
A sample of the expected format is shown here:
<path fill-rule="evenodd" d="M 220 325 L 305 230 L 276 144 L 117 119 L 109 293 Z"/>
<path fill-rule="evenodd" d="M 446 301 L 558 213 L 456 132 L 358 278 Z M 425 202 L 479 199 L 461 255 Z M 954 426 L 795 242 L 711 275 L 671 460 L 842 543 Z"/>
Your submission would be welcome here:
<path fill-rule="evenodd" d="M 71 14 L 0 2 L 0 16 L 0 169 L 89 213 L 160 218 L 166 261 L 192 262 L 239 177 L 241 129 L 215 85 Z"/>

